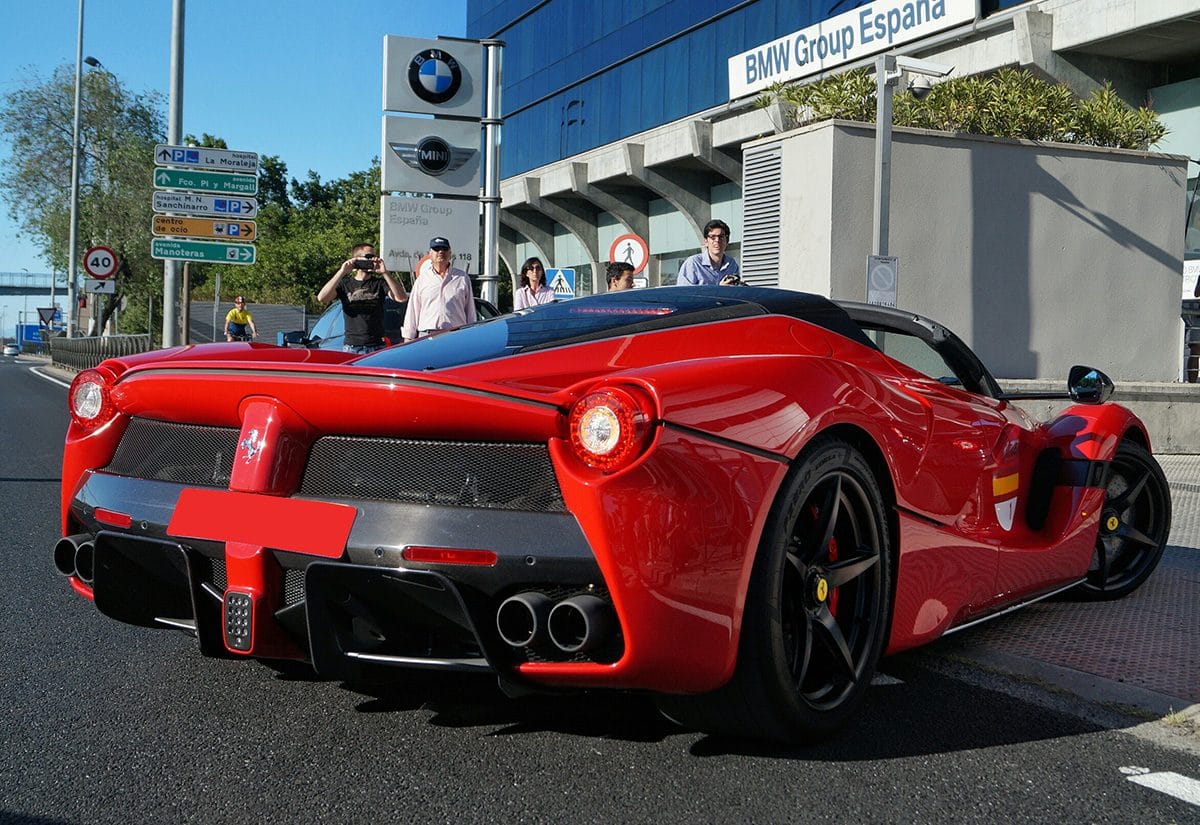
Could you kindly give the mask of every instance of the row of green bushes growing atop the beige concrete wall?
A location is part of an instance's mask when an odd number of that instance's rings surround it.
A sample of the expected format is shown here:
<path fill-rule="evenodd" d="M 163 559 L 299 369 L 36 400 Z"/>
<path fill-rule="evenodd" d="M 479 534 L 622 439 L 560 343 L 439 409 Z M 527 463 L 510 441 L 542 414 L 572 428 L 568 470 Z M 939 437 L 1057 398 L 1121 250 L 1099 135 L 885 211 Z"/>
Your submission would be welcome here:
<path fill-rule="evenodd" d="M 757 103 L 766 107 L 775 101 L 794 110 L 791 125 L 830 118 L 872 124 L 875 74 L 869 68 L 858 68 L 817 83 L 776 84 Z M 1110 84 L 1080 100 L 1062 84 L 1013 68 L 935 84 L 924 100 L 898 90 L 893 122 L 943 132 L 1115 149 L 1150 149 L 1166 134 L 1154 112 L 1129 107 Z"/>

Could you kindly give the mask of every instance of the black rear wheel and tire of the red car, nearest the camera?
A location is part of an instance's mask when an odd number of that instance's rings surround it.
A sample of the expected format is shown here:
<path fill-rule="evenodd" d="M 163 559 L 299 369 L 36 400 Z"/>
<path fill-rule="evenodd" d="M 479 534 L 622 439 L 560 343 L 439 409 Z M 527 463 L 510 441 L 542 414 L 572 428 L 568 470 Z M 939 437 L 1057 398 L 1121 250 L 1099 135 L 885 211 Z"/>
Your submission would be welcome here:
<path fill-rule="evenodd" d="M 671 719 L 707 733 L 814 741 L 858 709 L 887 637 L 892 556 L 883 495 L 866 460 L 814 441 L 772 506 L 724 687 L 661 697 Z"/>

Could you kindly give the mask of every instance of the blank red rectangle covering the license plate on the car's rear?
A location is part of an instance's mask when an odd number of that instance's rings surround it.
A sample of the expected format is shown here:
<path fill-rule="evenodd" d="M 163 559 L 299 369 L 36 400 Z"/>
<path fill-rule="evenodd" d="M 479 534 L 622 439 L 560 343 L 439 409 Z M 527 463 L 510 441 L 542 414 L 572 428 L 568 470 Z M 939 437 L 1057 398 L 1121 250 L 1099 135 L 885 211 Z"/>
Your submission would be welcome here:
<path fill-rule="evenodd" d="M 358 510 L 344 504 L 232 490 L 185 489 L 167 532 L 179 538 L 235 541 L 337 559 Z"/>

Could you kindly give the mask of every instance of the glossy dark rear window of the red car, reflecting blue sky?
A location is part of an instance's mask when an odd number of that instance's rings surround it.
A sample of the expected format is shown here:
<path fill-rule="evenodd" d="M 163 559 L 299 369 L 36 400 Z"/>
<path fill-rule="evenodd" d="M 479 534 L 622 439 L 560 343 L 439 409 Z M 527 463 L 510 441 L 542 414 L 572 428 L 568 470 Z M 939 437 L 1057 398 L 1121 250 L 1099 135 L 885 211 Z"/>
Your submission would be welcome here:
<path fill-rule="evenodd" d="M 842 335 L 862 336 L 840 307 L 816 295 L 738 287 L 664 287 L 547 303 L 391 347 L 356 363 L 390 369 L 443 369 L 552 347 L 773 312 Z"/>

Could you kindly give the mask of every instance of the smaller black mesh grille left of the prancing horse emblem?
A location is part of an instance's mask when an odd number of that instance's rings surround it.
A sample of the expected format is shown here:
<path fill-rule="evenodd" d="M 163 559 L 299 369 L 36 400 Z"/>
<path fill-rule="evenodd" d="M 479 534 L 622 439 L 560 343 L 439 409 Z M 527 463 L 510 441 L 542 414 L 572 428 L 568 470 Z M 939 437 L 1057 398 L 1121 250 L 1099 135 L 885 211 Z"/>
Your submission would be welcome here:
<path fill-rule="evenodd" d="M 132 478 L 228 487 L 236 448 L 234 427 L 132 418 L 104 470 Z"/>

